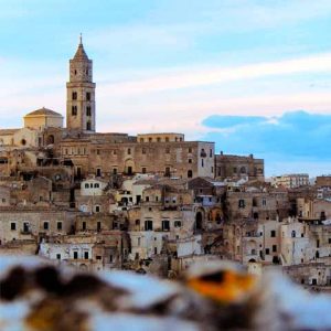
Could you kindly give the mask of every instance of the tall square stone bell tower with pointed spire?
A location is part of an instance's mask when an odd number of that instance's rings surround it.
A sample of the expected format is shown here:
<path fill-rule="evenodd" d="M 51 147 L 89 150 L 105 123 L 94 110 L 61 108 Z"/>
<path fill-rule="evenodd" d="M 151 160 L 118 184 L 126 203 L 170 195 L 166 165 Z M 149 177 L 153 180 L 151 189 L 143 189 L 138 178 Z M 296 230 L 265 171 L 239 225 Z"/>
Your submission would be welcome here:
<path fill-rule="evenodd" d="M 92 60 L 82 43 L 70 61 L 66 83 L 66 127 L 70 131 L 95 132 L 95 83 L 92 82 Z"/>

